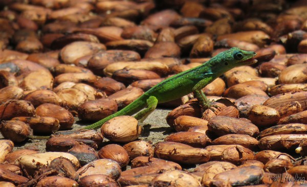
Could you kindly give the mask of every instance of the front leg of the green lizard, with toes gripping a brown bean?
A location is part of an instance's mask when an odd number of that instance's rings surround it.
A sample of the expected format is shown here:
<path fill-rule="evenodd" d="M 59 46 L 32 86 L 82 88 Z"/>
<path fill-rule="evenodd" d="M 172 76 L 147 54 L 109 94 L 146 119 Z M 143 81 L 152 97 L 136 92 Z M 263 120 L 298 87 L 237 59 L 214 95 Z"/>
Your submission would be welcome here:
<path fill-rule="evenodd" d="M 203 110 L 209 108 L 211 109 L 212 102 L 208 100 L 208 98 L 205 96 L 205 93 L 202 91 L 202 89 L 207 86 L 212 79 L 210 78 L 206 78 L 201 80 L 200 82 L 198 82 L 197 84 L 195 84 L 195 86 L 192 88 L 194 97 L 198 100 L 198 102 L 200 103 L 200 105 L 202 106 Z M 218 107 L 218 106 L 213 106 L 213 107 Z M 213 109 L 211 109 L 212 111 L 214 111 Z"/>

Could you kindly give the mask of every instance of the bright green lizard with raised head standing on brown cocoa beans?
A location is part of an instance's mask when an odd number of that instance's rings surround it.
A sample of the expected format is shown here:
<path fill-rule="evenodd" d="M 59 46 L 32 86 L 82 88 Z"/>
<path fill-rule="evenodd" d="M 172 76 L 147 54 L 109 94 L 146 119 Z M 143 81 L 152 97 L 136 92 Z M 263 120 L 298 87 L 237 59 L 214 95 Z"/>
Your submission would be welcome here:
<path fill-rule="evenodd" d="M 194 97 L 198 99 L 203 109 L 210 108 L 211 102 L 206 98 L 202 91 L 206 85 L 220 77 L 233 67 L 249 65 L 256 63 L 253 59 L 256 55 L 252 51 L 244 51 L 238 48 L 231 48 L 225 52 L 219 53 L 204 64 L 188 69 L 174 75 L 156 86 L 146 91 L 141 97 L 130 103 L 120 111 L 107 116 L 106 118 L 86 126 L 85 129 L 98 129 L 106 121 L 120 115 L 135 115 L 137 120 L 145 119 L 149 113 L 156 109 L 158 103 L 165 103 L 179 99 L 191 91 Z M 144 110 L 142 110 L 145 108 Z"/>

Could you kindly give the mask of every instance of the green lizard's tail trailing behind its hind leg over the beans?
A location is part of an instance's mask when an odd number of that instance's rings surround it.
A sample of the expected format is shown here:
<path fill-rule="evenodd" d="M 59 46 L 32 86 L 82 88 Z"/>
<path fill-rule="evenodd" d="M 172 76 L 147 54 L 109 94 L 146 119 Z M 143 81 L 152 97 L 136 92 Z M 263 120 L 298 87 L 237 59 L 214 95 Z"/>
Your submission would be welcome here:
<path fill-rule="evenodd" d="M 92 125 L 86 126 L 84 127 L 84 129 L 98 129 L 100 128 L 105 122 L 107 122 L 108 120 L 111 120 L 117 116 L 120 115 L 133 115 L 135 113 L 137 113 L 138 111 L 140 111 L 141 109 L 146 107 L 146 97 L 143 95 L 140 98 L 138 98 L 137 100 L 135 100 L 134 102 L 130 103 L 129 105 L 127 105 L 125 108 L 121 109 L 120 111 L 107 116 L 106 118 L 93 123 Z"/>

